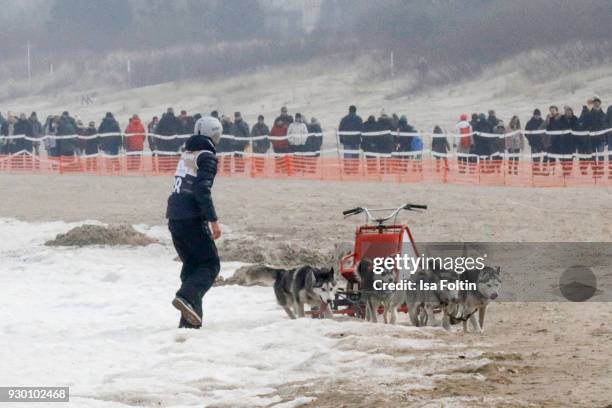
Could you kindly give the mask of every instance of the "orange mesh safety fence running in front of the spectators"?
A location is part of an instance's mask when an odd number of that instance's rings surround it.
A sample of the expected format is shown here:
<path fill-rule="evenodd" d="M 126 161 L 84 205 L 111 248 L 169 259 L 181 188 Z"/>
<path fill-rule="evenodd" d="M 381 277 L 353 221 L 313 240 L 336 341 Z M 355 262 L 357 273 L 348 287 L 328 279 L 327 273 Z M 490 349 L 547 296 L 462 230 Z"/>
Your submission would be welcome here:
<path fill-rule="evenodd" d="M 178 155 L 41 157 L 29 153 L 0 156 L 0 172 L 28 174 L 91 174 L 171 176 Z M 612 186 L 612 162 L 564 159 L 521 159 L 477 162 L 449 158 L 313 157 L 225 155 L 219 157 L 222 177 L 335 181 L 388 181 L 516 187 Z"/>

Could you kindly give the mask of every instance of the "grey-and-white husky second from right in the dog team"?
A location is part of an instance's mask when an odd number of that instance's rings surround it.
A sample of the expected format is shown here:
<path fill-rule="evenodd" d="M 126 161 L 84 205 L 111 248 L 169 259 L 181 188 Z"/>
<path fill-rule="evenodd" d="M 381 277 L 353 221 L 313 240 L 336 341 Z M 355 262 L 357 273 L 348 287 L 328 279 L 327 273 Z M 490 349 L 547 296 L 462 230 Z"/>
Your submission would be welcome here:
<path fill-rule="evenodd" d="M 417 327 L 426 326 L 428 323 L 435 325 L 434 310 L 441 309 L 445 312 L 451 308 L 458 299 L 459 292 L 457 290 L 440 287 L 441 280 L 455 281 L 457 274 L 454 271 L 444 269 L 428 269 L 420 270 L 410 275 L 409 281 L 414 282 L 415 289 L 398 292 L 393 298 L 393 315 L 391 316 L 392 323 L 397 318 L 395 310 L 397 306 L 406 303 L 408 307 L 408 315 L 413 325 Z M 430 287 L 435 285 L 434 290 L 422 290 L 421 285 L 429 284 Z M 450 330 L 450 317 L 443 313 L 442 326 L 446 330 Z M 439 323 L 438 323 L 439 324 Z"/>

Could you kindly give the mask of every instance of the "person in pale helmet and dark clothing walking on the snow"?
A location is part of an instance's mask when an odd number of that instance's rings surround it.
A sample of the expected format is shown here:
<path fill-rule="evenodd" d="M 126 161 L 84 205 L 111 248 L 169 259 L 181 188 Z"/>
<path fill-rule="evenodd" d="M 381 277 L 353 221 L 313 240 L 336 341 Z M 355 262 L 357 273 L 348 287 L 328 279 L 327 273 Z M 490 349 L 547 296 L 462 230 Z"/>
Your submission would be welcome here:
<path fill-rule="evenodd" d="M 168 228 L 183 262 L 181 287 L 172 301 L 181 313 L 179 328 L 202 326 L 202 298 L 221 267 L 214 243 L 221 236 L 221 227 L 211 192 L 218 164 L 215 145 L 221 132 L 216 118 L 209 116 L 196 122 L 194 135 L 187 139 L 176 167 L 168 198 Z"/>

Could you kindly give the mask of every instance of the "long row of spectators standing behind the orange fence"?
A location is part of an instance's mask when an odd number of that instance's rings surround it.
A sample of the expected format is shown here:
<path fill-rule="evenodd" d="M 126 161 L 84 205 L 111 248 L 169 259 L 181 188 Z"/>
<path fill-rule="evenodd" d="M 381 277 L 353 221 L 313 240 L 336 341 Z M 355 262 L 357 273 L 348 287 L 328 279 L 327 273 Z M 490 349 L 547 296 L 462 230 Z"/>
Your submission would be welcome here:
<path fill-rule="evenodd" d="M 238 168 L 245 152 L 255 155 L 270 151 L 277 154 L 320 154 L 323 133 L 319 121 L 314 117 L 307 120 L 301 113 L 291 115 L 286 107 L 281 108 L 271 127 L 263 115 L 259 115 L 252 127 L 240 112 L 228 116 L 212 111 L 210 115 L 220 120 L 223 134 L 229 136 L 221 139 L 219 153 L 235 157 Z M 36 112 L 29 117 L 24 113 L 19 116 L 9 114 L 6 118 L 0 114 L 2 136 L 29 137 L 1 139 L 0 154 L 24 150 L 40 154 L 45 149 L 50 157 L 90 156 L 99 152 L 114 156 L 121 150 L 130 155 L 142 152 L 148 144 L 156 155 L 176 155 L 185 140 L 176 136 L 191 134 L 200 117 L 202 115 L 199 113 L 188 115 L 184 110 L 175 115 L 174 110 L 168 108 L 161 118 L 155 116 L 147 124 L 134 114 L 122 129 L 110 112 L 98 126 L 95 122 L 84 124 L 69 112 L 48 116 L 44 123 L 39 121 Z M 601 99 L 593 97 L 583 106 L 579 116 L 569 106 L 565 106 L 562 112 L 557 106 L 550 106 L 546 116 L 540 109 L 535 109 L 524 127 L 518 116 L 512 116 L 506 124 L 493 110 L 488 114 L 473 113 L 471 118 L 462 114 L 454 129 L 444 131 L 440 126 L 434 127 L 431 151 L 436 159 L 442 161 L 446 161 L 447 154 L 454 151 L 459 158 L 461 171 L 469 169 L 470 163 L 483 160 L 490 161 L 493 168 L 499 167 L 500 164 L 496 163 L 506 157 L 510 171 L 516 173 L 519 157 L 528 145 L 534 164 L 543 169 L 559 160 L 564 169 L 571 170 L 571 164 L 577 157 L 581 170 L 585 172 L 588 163 L 594 161 L 597 164 L 604 160 L 606 146 L 612 159 L 612 131 L 598 135 L 580 132 L 606 129 L 612 129 L 612 106 L 604 112 Z M 422 136 L 407 117 L 395 113 L 388 115 L 384 110 L 378 118 L 369 115 L 364 121 L 357 114 L 357 108 L 350 106 L 348 114 L 339 123 L 338 131 L 338 141 L 342 144 L 346 159 L 359 158 L 362 154 L 366 158 L 393 156 L 418 159 L 423 150 Z M 449 138 L 448 134 L 453 136 Z M 58 137 L 36 141 L 44 135 Z M 69 137 L 74 135 L 80 137 Z M 349 171 L 354 169 L 350 163 L 345 166 Z"/>

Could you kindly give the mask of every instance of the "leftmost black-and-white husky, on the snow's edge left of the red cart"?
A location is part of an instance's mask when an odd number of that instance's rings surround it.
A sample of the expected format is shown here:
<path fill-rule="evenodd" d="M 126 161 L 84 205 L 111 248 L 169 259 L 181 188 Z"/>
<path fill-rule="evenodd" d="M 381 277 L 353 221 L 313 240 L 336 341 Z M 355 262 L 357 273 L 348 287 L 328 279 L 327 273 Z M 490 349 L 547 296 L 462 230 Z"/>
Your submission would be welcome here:
<path fill-rule="evenodd" d="M 291 319 L 304 317 L 304 304 L 324 307 L 323 317 L 331 318 L 330 305 L 336 294 L 334 268 L 309 265 L 294 270 L 278 271 L 274 282 L 278 304 Z"/>

